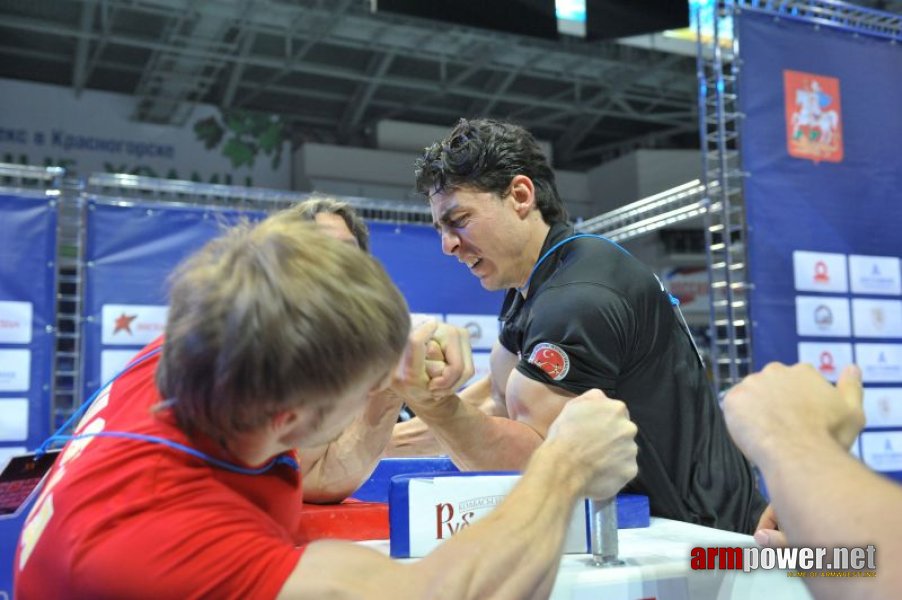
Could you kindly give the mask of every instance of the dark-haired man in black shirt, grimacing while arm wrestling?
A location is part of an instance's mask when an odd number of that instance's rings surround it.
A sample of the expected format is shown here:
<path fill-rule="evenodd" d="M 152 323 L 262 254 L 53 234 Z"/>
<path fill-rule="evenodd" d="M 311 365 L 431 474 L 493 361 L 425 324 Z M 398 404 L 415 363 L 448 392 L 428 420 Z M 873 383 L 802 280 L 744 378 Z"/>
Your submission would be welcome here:
<path fill-rule="evenodd" d="M 554 173 L 518 126 L 461 120 L 417 161 L 446 254 L 509 289 L 492 351 L 493 410 L 450 396 L 414 409 L 467 469 L 522 469 L 574 396 L 623 400 L 639 428 L 653 514 L 751 533 L 765 507 L 730 439 L 688 331 L 656 276 L 598 236 L 575 234 Z"/>

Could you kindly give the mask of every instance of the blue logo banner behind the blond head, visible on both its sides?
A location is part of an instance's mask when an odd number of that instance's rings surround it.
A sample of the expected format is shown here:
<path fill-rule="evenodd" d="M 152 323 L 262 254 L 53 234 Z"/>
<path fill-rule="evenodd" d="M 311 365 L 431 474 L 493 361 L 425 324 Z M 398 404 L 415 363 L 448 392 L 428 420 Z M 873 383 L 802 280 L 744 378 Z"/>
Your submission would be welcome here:
<path fill-rule="evenodd" d="M 85 398 L 163 333 L 166 281 L 182 259 L 240 217 L 263 212 L 94 199 L 88 202 L 84 304 Z M 370 245 L 407 298 L 415 317 L 466 327 L 475 362 L 488 369 L 498 335 L 500 293 L 479 286 L 455 259 L 442 255 L 423 225 L 371 223 Z"/>

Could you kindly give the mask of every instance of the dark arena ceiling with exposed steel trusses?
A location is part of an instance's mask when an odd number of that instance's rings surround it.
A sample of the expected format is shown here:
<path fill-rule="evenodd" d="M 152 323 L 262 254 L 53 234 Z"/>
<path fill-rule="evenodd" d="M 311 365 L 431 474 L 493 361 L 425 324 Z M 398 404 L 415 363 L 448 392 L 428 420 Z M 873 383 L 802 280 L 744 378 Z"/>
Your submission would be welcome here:
<path fill-rule="evenodd" d="M 369 0 L 0 0 L 0 77 L 128 94 L 143 122 L 184 124 L 198 102 L 277 113 L 294 145 L 495 116 L 551 141 L 558 168 L 698 146 L 692 56 L 372 14 Z"/>

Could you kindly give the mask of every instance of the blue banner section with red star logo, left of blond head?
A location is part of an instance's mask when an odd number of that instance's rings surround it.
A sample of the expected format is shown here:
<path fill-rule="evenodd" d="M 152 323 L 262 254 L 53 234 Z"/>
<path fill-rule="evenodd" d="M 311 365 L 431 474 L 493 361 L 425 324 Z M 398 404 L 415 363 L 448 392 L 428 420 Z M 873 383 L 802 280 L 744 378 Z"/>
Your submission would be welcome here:
<path fill-rule="evenodd" d="M 90 199 L 86 217 L 84 397 L 163 333 L 170 272 L 239 218 L 262 212 Z"/>

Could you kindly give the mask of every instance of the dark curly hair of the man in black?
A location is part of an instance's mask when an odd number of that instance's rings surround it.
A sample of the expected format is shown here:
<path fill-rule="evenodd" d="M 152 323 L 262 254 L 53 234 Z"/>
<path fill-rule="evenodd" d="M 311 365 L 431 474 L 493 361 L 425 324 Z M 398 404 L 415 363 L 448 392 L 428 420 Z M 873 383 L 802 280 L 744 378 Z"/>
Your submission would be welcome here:
<path fill-rule="evenodd" d="M 568 220 L 548 159 L 519 125 L 461 119 L 445 139 L 426 148 L 415 166 L 416 189 L 427 198 L 464 186 L 502 196 L 516 175 L 526 175 L 535 186 L 542 219 L 549 225 Z"/>

